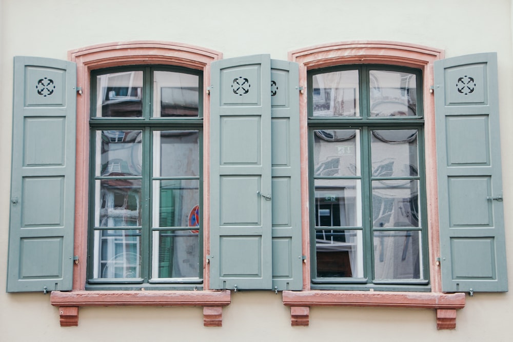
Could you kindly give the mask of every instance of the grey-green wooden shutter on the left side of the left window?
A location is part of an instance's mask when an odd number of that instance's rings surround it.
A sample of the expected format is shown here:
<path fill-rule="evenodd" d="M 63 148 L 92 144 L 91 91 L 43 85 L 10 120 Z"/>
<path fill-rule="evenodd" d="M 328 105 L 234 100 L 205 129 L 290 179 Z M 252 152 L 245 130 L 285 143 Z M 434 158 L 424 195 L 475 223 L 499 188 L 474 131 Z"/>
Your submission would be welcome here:
<path fill-rule="evenodd" d="M 8 292 L 71 290 L 76 66 L 14 58 Z"/>

